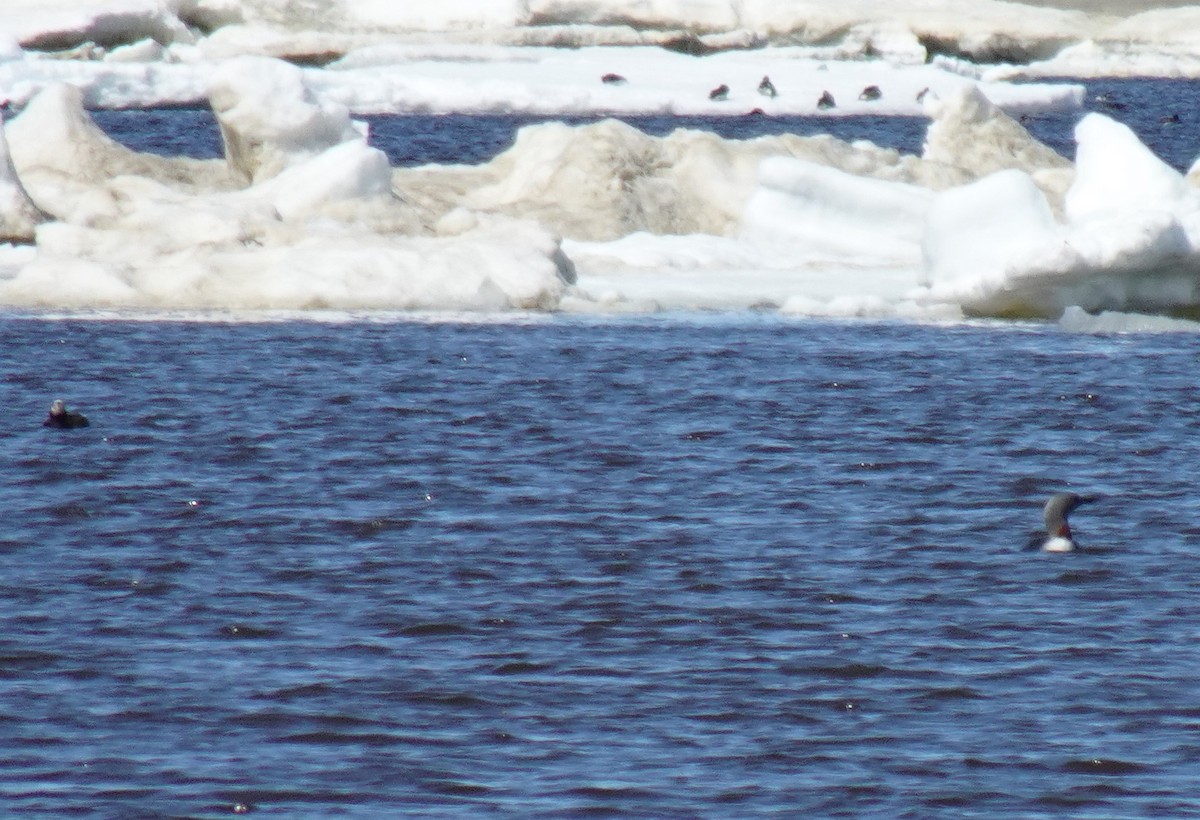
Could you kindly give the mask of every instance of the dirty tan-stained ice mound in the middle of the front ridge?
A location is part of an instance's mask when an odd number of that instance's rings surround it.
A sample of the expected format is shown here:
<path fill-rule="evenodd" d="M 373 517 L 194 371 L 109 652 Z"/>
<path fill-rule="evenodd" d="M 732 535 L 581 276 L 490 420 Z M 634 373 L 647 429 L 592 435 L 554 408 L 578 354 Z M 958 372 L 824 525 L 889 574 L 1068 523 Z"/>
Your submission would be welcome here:
<path fill-rule="evenodd" d="M 458 205 L 499 211 L 536 219 L 571 239 L 614 240 L 638 231 L 732 237 L 758 186 L 760 163 L 773 156 L 899 180 L 923 180 L 929 167 L 828 136 L 737 140 L 679 128 L 655 138 L 605 120 L 527 126 L 484 166 L 426 166 L 395 176 L 402 196 L 431 213 Z"/>

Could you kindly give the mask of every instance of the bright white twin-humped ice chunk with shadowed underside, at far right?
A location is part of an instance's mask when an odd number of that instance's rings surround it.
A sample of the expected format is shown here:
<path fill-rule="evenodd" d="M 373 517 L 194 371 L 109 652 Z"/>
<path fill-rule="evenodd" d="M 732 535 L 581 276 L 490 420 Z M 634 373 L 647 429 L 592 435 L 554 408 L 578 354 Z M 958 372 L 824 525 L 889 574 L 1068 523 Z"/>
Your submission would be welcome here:
<path fill-rule="evenodd" d="M 972 313 L 1046 318 L 1069 305 L 1200 304 L 1200 256 L 1188 234 L 1194 194 L 1115 125 L 1090 115 L 1078 131 L 1084 158 L 1067 193 L 1066 225 L 1020 172 L 941 193 L 924 241 L 930 294 Z"/>

